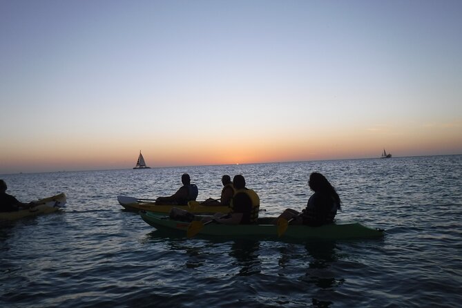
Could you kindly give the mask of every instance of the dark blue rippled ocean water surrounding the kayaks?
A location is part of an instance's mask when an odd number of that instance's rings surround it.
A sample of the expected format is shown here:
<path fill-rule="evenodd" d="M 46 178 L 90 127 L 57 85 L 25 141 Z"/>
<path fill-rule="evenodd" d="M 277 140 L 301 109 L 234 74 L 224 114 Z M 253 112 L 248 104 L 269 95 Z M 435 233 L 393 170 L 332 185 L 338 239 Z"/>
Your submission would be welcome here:
<path fill-rule="evenodd" d="M 242 174 L 260 215 L 302 209 L 318 171 L 338 220 L 379 240 L 273 242 L 168 236 L 117 195 L 198 200 Z M 462 155 L 1 175 L 23 202 L 64 192 L 64 211 L 0 227 L 0 307 L 460 307 Z"/>

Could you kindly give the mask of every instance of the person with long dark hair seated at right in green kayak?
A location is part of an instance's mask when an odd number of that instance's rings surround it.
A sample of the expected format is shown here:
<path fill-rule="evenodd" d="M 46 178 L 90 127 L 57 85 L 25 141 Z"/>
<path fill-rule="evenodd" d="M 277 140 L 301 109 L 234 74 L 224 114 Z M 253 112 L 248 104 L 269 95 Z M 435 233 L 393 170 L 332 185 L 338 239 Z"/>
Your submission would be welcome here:
<path fill-rule="evenodd" d="M 290 224 L 307 224 L 319 227 L 334 222 L 337 210 L 340 210 L 340 197 L 324 175 L 314 172 L 309 175 L 309 188 L 314 194 L 308 200 L 307 207 L 298 212 L 286 209 L 279 217 L 291 220 Z"/>

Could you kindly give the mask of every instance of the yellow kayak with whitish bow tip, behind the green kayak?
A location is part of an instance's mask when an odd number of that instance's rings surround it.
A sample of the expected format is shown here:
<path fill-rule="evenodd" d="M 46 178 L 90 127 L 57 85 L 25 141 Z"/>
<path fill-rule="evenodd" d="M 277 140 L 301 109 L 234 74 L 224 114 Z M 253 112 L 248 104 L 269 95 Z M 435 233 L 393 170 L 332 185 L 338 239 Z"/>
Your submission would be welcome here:
<path fill-rule="evenodd" d="M 205 205 L 198 205 L 198 206 L 187 206 L 187 205 L 162 205 L 162 204 L 155 204 L 153 201 L 142 201 L 137 200 L 136 202 L 126 201 L 130 200 L 131 198 L 124 198 L 124 196 L 117 196 L 117 201 L 120 205 L 124 207 L 124 209 L 128 211 L 151 211 L 155 213 L 170 213 L 171 209 L 174 207 L 177 209 L 183 209 L 185 211 L 189 211 L 190 213 L 229 213 L 228 206 L 205 206 Z"/>

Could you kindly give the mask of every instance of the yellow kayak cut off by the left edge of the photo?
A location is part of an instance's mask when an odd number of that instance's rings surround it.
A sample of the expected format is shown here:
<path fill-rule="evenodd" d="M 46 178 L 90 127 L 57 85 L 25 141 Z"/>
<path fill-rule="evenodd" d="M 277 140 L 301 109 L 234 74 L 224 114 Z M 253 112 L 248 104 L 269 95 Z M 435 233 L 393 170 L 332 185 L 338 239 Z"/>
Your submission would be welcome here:
<path fill-rule="evenodd" d="M 31 209 L 23 209 L 14 212 L 1 212 L 0 220 L 19 220 L 21 218 L 54 213 L 59 211 L 61 206 L 66 204 L 66 195 L 64 193 L 60 193 L 59 195 L 53 195 L 52 197 L 37 200 L 35 203 L 39 205 L 34 206 Z"/>

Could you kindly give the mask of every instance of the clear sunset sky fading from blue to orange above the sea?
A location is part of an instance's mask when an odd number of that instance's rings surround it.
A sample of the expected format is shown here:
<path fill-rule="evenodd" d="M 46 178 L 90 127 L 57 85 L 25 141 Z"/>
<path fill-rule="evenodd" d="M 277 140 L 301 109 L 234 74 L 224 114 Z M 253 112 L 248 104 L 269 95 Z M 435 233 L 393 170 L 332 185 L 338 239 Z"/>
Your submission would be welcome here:
<path fill-rule="evenodd" d="M 0 0 L 0 174 L 462 153 L 462 1 Z"/>

